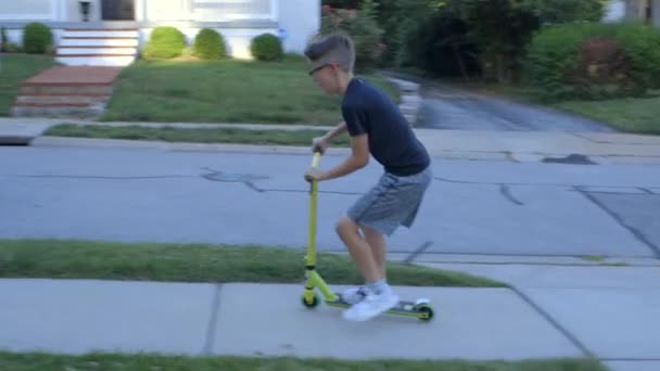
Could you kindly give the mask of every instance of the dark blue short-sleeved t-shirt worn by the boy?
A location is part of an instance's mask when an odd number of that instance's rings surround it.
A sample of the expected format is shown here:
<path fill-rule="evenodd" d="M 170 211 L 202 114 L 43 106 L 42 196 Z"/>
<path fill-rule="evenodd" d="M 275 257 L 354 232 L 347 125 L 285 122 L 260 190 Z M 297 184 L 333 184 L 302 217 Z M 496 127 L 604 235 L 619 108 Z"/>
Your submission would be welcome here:
<path fill-rule="evenodd" d="M 369 152 L 385 171 L 409 176 L 429 166 L 427 149 L 396 103 L 370 82 L 361 78 L 351 80 L 342 102 L 342 115 L 348 135 L 366 132 L 369 136 Z"/>

